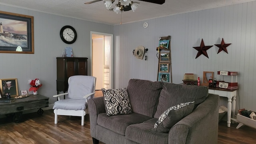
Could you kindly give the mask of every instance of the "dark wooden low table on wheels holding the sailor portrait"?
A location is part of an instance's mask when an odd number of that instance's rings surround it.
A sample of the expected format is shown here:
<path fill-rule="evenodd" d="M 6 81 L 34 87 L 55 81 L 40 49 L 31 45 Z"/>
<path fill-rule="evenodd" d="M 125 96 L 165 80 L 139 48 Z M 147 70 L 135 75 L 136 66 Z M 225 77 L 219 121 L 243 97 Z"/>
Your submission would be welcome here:
<path fill-rule="evenodd" d="M 42 115 L 44 110 L 41 108 L 48 107 L 49 98 L 41 95 L 30 95 L 26 98 L 15 99 L 13 102 L 0 102 L 0 115 L 14 114 L 14 122 L 20 122 L 24 110 L 38 109 L 37 113 Z"/>

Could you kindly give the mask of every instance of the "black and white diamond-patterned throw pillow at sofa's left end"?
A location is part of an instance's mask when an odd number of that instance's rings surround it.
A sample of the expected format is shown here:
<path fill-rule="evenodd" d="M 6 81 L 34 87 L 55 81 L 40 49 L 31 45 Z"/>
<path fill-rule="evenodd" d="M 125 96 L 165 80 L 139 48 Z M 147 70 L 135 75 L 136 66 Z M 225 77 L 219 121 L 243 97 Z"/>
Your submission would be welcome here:
<path fill-rule="evenodd" d="M 101 90 L 104 96 L 107 116 L 132 113 L 132 107 L 126 88 L 108 90 L 102 88 Z"/>

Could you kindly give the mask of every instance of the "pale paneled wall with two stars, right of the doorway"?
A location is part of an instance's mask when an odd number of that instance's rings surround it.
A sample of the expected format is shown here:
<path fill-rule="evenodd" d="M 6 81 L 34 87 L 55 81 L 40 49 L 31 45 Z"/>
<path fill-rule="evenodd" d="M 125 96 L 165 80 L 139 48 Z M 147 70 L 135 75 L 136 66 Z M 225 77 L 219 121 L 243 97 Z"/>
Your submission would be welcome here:
<path fill-rule="evenodd" d="M 202 79 L 203 71 L 227 70 L 238 72 L 239 96 L 236 109 L 256 111 L 256 1 L 156 18 L 114 26 L 116 63 L 114 78 L 116 88 L 128 85 L 130 78 L 157 80 L 158 38 L 171 36 L 173 83 L 182 83 L 185 73 L 194 73 Z M 143 23 L 148 22 L 148 28 Z M 228 54 L 218 52 L 224 38 Z M 201 40 L 206 46 L 209 59 L 196 58 Z M 148 48 L 148 60 L 138 60 L 132 55 L 137 46 Z M 195 59 L 196 58 L 196 59 Z M 228 80 L 227 80 L 228 81 Z M 226 100 L 224 99 L 226 104 Z M 239 103 L 240 102 L 240 103 Z"/>

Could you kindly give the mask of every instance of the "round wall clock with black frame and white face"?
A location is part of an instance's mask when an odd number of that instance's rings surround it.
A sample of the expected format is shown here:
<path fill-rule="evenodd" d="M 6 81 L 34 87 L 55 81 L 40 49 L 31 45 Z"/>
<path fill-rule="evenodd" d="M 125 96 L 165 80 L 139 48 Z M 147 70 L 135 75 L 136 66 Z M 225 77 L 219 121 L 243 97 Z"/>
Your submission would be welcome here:
<path fill-rule="evenodd" d="M 76 30 L 72 26 L 63 26 L 60 30 L 60 38 L 66 44 L 73 44 L 76 41 Z"/>

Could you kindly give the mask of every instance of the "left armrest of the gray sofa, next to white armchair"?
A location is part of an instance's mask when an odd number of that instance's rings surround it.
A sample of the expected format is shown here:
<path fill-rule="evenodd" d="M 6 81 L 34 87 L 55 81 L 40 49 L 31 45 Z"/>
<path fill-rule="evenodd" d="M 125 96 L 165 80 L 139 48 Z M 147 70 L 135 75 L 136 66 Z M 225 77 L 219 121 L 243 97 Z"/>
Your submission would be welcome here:
<path fill-rule="evenodd" d="M 89 99 L 88 108 L 89 108 L 89 115 L 90 115 L 91 136 L 93 138 L 96 138 L 96 125 L 97 125 L 98 114 L 106 112 L 103 96 Z"/>

